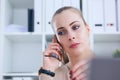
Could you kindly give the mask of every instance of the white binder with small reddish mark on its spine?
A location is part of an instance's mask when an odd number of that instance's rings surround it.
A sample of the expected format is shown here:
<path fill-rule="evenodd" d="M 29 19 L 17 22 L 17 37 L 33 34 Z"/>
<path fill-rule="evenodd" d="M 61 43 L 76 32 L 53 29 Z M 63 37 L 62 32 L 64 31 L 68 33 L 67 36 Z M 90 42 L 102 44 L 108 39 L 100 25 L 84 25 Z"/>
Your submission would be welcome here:
<path fill-rule="evenodd" d="M 116 32 L 116 7 L 115 0 L 104 0 L 105 31 Z"/>

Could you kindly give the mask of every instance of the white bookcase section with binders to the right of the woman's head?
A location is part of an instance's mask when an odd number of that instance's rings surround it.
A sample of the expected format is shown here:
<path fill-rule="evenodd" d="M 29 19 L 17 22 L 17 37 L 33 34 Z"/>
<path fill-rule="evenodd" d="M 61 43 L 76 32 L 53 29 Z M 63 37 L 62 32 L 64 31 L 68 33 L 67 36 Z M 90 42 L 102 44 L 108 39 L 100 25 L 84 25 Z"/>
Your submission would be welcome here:
<path fill-rule="evenodd" d="M 93 32 L 93 50 L 96 56 L 113 57 L 120 49 L 120 1 L 89 0 L 87 22 Z"/>

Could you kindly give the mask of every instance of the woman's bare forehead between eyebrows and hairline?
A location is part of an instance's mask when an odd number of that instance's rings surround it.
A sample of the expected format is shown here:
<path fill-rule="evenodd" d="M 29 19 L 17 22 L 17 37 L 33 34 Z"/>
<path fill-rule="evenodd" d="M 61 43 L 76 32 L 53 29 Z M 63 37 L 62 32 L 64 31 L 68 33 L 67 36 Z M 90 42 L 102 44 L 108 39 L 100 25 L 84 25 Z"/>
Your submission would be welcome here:
<path fill-rule="evenodd" d="M 64 27 L 73 21 L 83 22 L 80 14 L 71 10 L 65 10 L 62 13 L 57 14 L 54 18 L 56 27 Z"/>

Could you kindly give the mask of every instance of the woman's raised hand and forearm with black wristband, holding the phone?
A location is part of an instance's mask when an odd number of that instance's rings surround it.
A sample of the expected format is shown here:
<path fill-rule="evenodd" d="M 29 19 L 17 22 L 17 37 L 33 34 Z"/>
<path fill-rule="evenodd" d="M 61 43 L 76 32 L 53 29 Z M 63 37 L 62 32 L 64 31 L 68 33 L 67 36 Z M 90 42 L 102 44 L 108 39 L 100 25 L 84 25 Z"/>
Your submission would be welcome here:
<path fill-rule="evenodd" d="M 53 38 L 52 43 L 49 44 L 48 48 L 43 52 L 42 69 L 55 72 L 55 70 L 59 67 L 59 62 L 61 61 L 61 55 L 59 53 L 59 51 L 61 51 L 60 48 L 61 46 L 56 42 L 55 38 Z M 55 55 L 52 55 L 53 53 Z M 49 74 L 41 73 L 39 79 L 54 80 L 54 77 L 51 77 Z"/>

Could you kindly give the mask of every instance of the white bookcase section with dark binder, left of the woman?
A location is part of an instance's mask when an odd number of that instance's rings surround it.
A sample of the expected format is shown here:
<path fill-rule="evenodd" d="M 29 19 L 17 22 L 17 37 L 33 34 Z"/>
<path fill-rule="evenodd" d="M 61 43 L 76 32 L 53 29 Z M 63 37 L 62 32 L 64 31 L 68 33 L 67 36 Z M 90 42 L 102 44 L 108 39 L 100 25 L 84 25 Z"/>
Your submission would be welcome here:
<path fill-rule="evenodd" d="M 19 80 L 37 80 L 37 71 L 42 65 L 42 51 L 44 49 L 41 28 L 42 1 L 1 0 L 0 2 L 0 79 L 15 80 L 16 77 L 19 77 Z M 6 31 L 11 24 L 12 26 L 13 24 L 21 25 L 27 29 L 28 9 L 35 10 L 36 32 Z"/>

